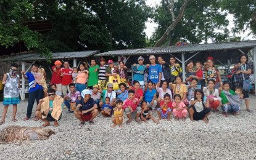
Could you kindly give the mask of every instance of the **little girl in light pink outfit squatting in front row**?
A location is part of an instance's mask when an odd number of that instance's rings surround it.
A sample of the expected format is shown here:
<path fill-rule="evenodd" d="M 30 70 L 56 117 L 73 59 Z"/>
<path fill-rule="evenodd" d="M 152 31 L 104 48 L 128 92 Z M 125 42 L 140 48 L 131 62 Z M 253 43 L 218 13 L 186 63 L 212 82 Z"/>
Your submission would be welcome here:
<path fill-rule="evenodd" d="M 175 116 L 175 121 L 178 121 L 180 118 L 182 121 L 186 121 L 188 111 L 186 110 L 186 105 L 181 101 L 181 95 L 175 94 L 173 99 L 173 116 Z"/>

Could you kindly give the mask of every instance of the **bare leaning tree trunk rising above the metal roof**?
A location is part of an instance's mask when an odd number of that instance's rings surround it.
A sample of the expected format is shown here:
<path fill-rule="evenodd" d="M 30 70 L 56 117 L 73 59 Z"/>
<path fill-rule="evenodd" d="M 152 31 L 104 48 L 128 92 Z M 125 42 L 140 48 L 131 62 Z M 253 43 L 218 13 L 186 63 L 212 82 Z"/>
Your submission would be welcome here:
<path fill-rule="evenodd" d="M 173 1 L 173 0 L 171 0 L 171 1 Z M 178 25 L 178 23 L 180 22 L 181 18 L 184 15 L 184 11 L 185 11 L 186 7 L 188 6 L 189 1 L 190 0 L 185 0 L 184 1 L 183 5 L 181 6 L 181 9 L 180 9 L 180 14 L 176 17 L 174 22 L 171 23 L 170 26 L 168 26 L 168 28 L 165 31 L 165 33 L 163 33 L 163 36 L 155 43 L 154 47 L 159 47 L 161 44 L 163 44 L 165 39 L 167 39 L 168 35 L 170 34 L 170 31 L 174 30 L 175 26 Z"/>

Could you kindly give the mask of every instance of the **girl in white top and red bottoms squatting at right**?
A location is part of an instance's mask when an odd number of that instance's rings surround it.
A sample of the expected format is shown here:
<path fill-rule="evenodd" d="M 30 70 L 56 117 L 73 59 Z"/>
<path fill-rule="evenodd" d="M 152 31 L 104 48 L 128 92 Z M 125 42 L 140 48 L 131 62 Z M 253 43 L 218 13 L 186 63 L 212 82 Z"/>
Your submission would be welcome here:
<path fill-rule="evenodd" d="M 204 87 L 204 95 L 209 99 L 209 107 L 213 109 L 213 111 L 218 111 L 218 106 L 220 105 L 221 98 L 219 97 L 218 89 L 214 88 L 215 81 L 210 79 L 208 81 L 208 86 Z"/>

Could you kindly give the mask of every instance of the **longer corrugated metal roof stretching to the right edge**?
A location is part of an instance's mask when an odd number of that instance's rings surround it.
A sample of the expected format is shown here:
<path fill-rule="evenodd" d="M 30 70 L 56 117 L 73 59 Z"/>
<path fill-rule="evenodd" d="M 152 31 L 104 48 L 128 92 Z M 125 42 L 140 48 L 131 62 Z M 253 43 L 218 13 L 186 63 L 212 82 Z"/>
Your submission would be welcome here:
<path fill-rule="evenodd" d="M 144 49 L 112 50 L 94 56 L 142 55 L 142 54 L 174 54 L 182 52 L 199 52 L 210 50 L 229 50 L 256 47 L 256 41 L 222 42 L 212 44 L 191 44 L 188 46 L 152 47 Z"/>

